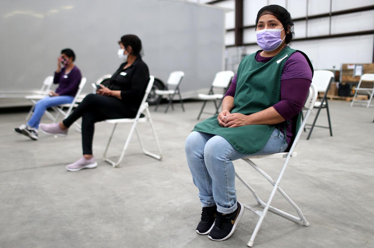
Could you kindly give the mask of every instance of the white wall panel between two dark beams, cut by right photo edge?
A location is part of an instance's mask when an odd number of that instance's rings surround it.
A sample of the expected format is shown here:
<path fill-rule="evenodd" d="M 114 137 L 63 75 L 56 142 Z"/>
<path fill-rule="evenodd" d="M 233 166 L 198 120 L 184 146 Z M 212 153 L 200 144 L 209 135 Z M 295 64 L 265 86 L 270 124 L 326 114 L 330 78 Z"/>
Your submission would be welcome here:
<path fill-rule="evenodd" d="M 374 10 L 331 17 L 331 34 L 349 33 L 373 29 Z"/>

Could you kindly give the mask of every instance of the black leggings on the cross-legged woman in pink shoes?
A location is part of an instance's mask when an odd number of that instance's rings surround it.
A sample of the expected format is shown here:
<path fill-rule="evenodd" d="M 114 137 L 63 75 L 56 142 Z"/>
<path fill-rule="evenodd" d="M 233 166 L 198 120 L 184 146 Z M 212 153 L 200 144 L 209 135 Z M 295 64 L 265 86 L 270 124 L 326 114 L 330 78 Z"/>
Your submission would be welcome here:
<path fill-rule="evenodd" d="M 76 120 L 82 117 L 83 154 L 92 154 L 95 122 L 101 122 L 106 119 L 134 118 L 136 114 L 136 111 L 129 110 L 118 98 L 88 94 L 62 123 L 69 128 Z"/>

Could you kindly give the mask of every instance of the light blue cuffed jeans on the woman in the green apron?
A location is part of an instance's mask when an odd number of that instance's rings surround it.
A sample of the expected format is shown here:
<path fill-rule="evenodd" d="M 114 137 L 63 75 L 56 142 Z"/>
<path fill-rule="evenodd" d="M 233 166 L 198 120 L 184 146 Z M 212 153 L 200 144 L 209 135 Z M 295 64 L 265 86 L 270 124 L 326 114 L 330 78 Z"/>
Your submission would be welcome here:
<path fill-rule="evenodd" d="M 283 152 L 285 137 L 274 129 L 266 145 L 252 155 Z M 193 183 L 199 189 L 202 207 L 217 205 L 217 211 L 230 214 L 237 208 L 233 160 L 248 156 L 240 153 L 223 137 L 192 132 L 186 140 L 187 163 Z"/>

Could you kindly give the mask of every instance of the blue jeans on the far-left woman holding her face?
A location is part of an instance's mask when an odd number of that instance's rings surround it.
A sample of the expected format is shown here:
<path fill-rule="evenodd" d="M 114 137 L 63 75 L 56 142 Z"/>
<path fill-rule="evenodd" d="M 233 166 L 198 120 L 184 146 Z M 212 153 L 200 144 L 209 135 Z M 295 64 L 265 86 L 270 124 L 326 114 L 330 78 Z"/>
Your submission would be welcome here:
<path fill-rule="evenodd" d="M 31 116 L 31 119 L 27 122 L 27 125 L 32 128 L 39 128 L 40 119 L 47 108 L 52 106 L 57 106 L 60 104 L 71 103 L 74 100 L 72 96 L 55 96 L 50 97 L 46 96 L 35 104 L 34 114 Z"/>

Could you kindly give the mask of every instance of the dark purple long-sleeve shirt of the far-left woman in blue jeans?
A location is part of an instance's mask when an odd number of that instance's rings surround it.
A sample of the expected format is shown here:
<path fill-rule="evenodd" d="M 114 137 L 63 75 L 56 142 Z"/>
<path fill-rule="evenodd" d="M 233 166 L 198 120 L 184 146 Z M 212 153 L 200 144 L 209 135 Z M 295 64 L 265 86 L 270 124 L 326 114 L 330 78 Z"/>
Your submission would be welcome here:
<path fill-rule="evenodd" d="M 82 74 L 77 66 L 74 65 L 70 73 L 65 74 L 66 68 L 62 68 L 59 73 L 55 72 L 55 77 L 53 77 L 53 83 L 58 83 L 58 88 L 56 93 L 63 95 L 75 96 L 78 91 L 78 86 L 80 80 L 82 79 Z"/>

